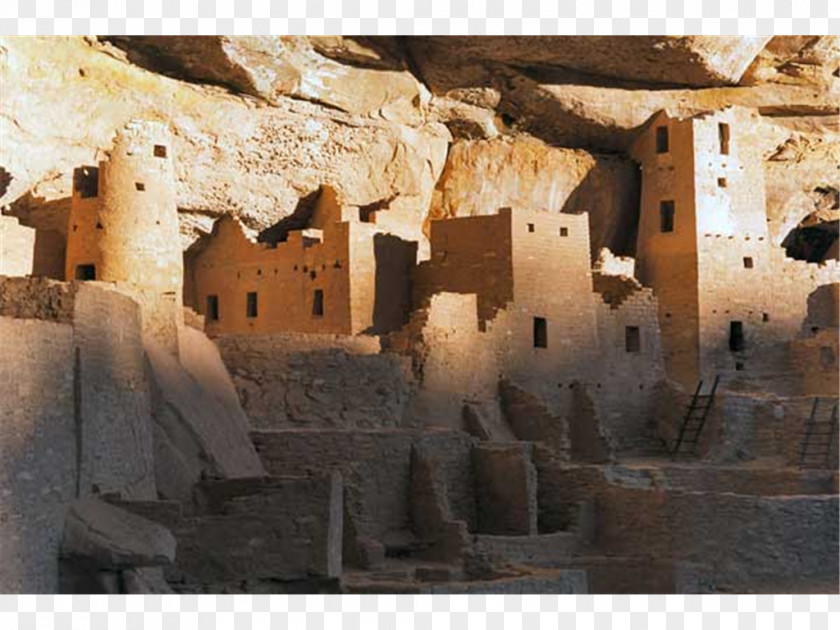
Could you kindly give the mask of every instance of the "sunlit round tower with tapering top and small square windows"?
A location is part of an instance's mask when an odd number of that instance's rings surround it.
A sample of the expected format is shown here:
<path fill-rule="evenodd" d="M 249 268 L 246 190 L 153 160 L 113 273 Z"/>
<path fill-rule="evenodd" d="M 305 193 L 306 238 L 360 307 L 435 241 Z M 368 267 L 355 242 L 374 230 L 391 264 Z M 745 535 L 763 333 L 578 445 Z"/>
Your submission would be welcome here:
<path fill-rule="evenodd" d="M 144 332 L 177 353 L 183 256 L 165 124 L 126 124 L 107 160 L 76 169 L 65 273 L 115 283 L 140 303 Z"/>

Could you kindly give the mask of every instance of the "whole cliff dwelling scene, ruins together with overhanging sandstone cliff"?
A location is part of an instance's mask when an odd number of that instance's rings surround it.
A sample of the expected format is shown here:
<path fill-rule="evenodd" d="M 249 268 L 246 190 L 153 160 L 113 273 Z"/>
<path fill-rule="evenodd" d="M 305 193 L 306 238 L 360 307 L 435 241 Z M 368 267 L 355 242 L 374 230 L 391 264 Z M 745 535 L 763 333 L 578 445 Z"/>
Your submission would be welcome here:
<path fill-rule="evenodd" d="M 220 39 L 3 38 L 0 590 L 837 591 L 836 37 Z"/>

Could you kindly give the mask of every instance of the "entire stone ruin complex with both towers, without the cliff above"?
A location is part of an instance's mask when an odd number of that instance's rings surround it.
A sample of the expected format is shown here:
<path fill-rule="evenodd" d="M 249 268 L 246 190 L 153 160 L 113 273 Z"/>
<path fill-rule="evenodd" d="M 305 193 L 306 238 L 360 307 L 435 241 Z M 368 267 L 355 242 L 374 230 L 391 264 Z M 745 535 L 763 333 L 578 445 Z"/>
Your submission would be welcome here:
<path fill-rule="evenodd" d="M 166 125 L 129 123 L 74 174 L 63 278 L 0 221 L 0 589 L 836 586 L 837 466 L 797 463 L 838 395 L 837 263 L 770 242 L 754 115 L 639 132 L 635 261 L 592 252 L 586 212 L 421 243 L 328 187 L 184 254 Z"/>

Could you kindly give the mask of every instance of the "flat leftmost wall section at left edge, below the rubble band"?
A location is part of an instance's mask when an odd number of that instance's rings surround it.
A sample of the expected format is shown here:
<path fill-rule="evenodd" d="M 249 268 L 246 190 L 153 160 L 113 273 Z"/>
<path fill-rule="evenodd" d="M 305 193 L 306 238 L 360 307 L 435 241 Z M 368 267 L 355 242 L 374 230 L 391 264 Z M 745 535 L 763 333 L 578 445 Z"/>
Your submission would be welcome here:
<path fill-rule="evenodd" d="M 76 497 L 69 323 L 0 317 L 0 591 L 58 591 L 58 548 Z"/>

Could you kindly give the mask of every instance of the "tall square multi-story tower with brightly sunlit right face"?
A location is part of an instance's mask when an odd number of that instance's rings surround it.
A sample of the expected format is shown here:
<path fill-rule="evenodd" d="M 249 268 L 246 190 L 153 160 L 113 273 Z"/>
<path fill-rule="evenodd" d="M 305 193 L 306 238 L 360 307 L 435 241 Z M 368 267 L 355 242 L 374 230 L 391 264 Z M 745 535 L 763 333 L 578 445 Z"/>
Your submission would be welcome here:
<path fill-rule="evenodd" d="M 663 111 L 631 149 L 642 168 L 637 274 L 658 297 L 666 370 L 688 387 L 749 378 L 771 356 L 783 364 L 821 281 L 806 278 L 825 273 L 770 243 L 760 125 L 738 107 Z"/>

